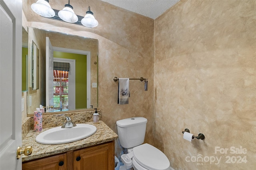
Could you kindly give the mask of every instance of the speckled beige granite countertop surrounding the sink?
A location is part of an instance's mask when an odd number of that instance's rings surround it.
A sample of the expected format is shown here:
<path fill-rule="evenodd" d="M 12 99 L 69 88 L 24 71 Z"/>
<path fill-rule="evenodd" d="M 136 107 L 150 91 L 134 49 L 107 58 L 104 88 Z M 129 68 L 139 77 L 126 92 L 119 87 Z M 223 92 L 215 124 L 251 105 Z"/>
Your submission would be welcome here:
<path fill-rule="evenodd" d="M 114 131 L 112 131 L 112 129 L 110 129 L 110 127 L 108 127 L 103 121 L 99 121 L 99 124 L 93 124 L 93 122 L 88 122 L 84 124 L 94 125 L 97 128 L 96 133 L 80 141 L 59 145 L 43 145 L 37 143 L 36 136 L 42 132 L 38 133 L 30 130 L 26 137 L 24 137 L 24 139 L 22 140 L 22 149 L 27 146 L 32 146 L 33 152 L 29 156 L 25 156 L 24 154 L 22 154 L 22 162 L 42 158 L 45 156 L 51 156 L 54 154 L 60 154 L 70 150 L 82 149 L 85 147 L 90 147 L 93 145 L 98 145 L 118 139 L 118 135 Z M 48 129 L 50 128 L 45 128 L 43 129 L 43 131 L 46 131 Z"/>

